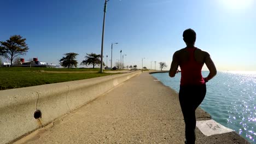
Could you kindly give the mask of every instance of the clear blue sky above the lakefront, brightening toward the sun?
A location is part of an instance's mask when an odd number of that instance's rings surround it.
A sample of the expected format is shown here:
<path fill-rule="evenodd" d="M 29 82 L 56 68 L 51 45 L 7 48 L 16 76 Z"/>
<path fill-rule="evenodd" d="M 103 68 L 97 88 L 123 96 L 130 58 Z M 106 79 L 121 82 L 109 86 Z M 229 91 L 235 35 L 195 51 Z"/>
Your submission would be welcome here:
<path fill-rule="evenodd" d="M 0 2 L 0 40 L 10 35 L 27 39 L 25 60 L 59 64 L 63 53 L 101 52 L 104 0 L 45 0 Z M 254 0 L 110 0 L 107 5 L 104 56 L 110 66 L 120 50 L 125 65 L 150 68 L 166 62 L 185 47 L 182 33 L 193 28 L 196 46 L 211 54 L 218 70 L 256 70 L 256 2 Z M 104 57 L 106 63 L 106 57 Z M 152 68 L 154 64 L 152 63 Z M 159 65 L 156 65 L 158 68 Z"/>

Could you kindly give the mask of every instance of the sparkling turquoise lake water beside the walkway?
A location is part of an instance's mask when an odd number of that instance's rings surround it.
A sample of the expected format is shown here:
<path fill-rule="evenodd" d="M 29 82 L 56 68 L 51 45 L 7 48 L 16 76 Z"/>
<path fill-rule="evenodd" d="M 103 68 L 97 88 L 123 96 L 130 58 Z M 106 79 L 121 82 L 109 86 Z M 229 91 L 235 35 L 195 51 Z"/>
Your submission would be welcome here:
<path fill-rule="evenodd" d="M 202 71 L 203 77 L 209 74 Z M 181 73 L 152 74 L 164 85 L 179 91 Z M 212 119 L 233 129 L 251 143 L 256 143 L 256 72 L 218 71 L 207 82 L 206 97 L 200 105 Z"/>

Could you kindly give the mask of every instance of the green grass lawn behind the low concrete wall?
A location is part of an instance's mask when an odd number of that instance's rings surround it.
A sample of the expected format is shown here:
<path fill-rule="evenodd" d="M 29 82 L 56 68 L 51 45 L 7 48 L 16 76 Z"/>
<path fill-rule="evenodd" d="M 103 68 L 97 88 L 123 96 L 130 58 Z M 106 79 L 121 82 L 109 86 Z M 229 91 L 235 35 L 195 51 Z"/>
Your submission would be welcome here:
<path fill-rule="evenodd" d="M 90 79 L 111 73 L 44 73 L 44 71 L 92 71 L 92 69 L 0 68 L 0 90 Z M 95 70 L 95 71 L 98 71 Z"/>

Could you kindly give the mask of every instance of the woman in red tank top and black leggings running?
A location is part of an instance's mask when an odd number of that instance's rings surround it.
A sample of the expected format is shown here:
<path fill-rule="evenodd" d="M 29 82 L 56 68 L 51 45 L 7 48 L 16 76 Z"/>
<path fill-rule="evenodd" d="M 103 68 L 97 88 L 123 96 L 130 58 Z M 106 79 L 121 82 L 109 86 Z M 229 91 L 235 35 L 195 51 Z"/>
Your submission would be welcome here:
<path fill-rule="evenodd" d="M 183 40 L 187 46 L 173 54 L 169 76 L 174 77 L 178 73 L 178 67 L 181 68 L 179 103 L 185 122 L 185 143 L 194 144 L 195 110 L 205 98 L 206 82 L 217 74 L 217 70 L 209 53 L 195 47 L 196 33 L 193 29 L 189 28 L 183 32 Z M 203 64 L 206 64 L 210 71 L 207 77 L 202 77 L 201 74 Z"/>

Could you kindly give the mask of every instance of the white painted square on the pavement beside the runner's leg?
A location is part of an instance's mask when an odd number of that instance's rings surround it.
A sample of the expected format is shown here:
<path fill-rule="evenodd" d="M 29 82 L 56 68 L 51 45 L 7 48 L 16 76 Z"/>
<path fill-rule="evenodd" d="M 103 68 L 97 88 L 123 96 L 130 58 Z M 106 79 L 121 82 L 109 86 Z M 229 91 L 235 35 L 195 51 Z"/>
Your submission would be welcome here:
<path fill-rule="evenodd" d="M 232 129 L 224 127 L 213 119 L 207 121 L 196 121 L 196 127 L 199 128 L 199 130 L 201 130 L 201 132 L 206 136 L 229 133 L 231 131 L 234 131 Z"/>

